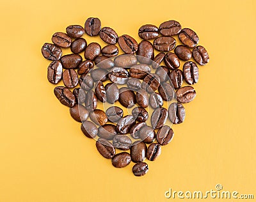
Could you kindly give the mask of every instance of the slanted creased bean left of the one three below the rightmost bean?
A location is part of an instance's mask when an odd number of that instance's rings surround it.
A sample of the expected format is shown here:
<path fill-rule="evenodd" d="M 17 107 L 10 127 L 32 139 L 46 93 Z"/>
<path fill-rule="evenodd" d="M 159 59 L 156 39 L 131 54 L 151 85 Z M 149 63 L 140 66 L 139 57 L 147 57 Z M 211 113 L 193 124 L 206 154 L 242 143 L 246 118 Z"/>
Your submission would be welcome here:
<path fill-rule="evenodd" d="M 167 109 L 161 107 L 153 111 L 151 116 L 151 125 L 153 128 L 161 128 L 168 118 Z"/>

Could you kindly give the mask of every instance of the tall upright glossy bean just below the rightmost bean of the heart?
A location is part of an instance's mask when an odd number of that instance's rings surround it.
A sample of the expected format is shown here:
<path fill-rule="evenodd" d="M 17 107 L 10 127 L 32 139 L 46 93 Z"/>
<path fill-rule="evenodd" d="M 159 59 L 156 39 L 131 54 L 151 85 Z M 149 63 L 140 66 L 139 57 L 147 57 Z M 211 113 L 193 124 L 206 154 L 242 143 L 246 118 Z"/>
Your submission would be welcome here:
<path fill-rule="evenodd" d="M 185 81 L 189 85 L 197 83 L 199 78 L 199 70 L 198 67 L 196 66 L 196 63 L 191 61 L 186 62 L 183 65 L 183 74 Z"/>

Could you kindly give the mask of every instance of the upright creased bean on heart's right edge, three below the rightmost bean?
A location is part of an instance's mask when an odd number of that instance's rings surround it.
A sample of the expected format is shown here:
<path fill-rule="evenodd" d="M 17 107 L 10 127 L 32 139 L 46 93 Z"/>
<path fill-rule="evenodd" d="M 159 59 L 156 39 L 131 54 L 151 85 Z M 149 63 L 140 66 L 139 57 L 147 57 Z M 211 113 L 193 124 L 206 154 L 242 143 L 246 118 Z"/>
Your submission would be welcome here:
<path fill-rule="evenodd" d="M 170 104 L 168 113 L 170 121 L 174 124 L 182 123 L 185 120 L 185 108 L 180 103 L 173 102 Z"/>

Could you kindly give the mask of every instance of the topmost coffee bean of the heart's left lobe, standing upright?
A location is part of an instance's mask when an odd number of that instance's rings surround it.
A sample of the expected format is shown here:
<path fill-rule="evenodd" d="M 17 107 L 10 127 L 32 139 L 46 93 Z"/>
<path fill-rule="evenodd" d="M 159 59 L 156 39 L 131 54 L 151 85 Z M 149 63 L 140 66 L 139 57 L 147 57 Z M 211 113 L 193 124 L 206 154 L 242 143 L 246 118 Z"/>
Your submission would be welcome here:
<path fill-rule="evenodd" d="M 84 29 L 89 36 L 97 36 L 100 33 L 101 22 L 96 17 L 88 18 L 84 23 Z"/>

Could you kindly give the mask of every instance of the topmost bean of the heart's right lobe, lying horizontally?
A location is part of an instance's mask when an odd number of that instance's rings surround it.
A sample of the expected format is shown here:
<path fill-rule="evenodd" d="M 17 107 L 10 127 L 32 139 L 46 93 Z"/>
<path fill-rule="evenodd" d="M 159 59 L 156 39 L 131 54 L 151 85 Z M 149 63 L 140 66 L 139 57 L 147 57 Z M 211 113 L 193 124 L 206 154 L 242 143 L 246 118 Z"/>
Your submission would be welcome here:
<path fill-rule="evenodd" d="M 181 31 L 181 25 L 179 22 L 175 20 L 169 20 L 166 22 L 163 22 L 159 26 L 159 32 L 163 36 L 173 36 L 173 35 L 178 35 Z"/>

